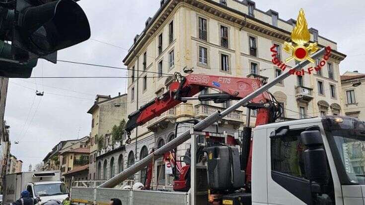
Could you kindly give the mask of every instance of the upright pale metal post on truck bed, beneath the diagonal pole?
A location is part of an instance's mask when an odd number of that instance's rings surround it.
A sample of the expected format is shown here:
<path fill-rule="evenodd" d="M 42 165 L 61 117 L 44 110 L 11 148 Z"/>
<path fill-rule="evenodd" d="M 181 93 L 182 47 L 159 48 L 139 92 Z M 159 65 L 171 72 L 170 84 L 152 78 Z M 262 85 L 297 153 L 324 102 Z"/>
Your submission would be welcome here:
<path fill-rule="evenodd" d="M 190 153 L 191 153 L 191 178 L 190 178 L 190 194 L 191 194 L 191 205 L 195 205 L 196 203 L 196 146 L 197 146 L 197 138 L 194 135 L 194 127 L 190 128 Z"/>

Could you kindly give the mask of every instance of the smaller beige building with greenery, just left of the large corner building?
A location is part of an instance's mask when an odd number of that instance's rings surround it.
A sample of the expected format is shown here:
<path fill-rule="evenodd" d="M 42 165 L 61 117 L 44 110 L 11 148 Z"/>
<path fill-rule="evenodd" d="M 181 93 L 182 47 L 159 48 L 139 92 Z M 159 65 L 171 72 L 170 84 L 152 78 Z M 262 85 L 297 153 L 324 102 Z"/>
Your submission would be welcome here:
<path fill-rule="evenodd" d="M 105 169 L 110 167 L 110 162 L 113 157 L 106 154 L 109 151 L 122 151 L 121 143 L 118 146 L 112 146 L 112 140 L 110 134 L 113 126 L 118 126 L 123 119 L 127 118 L 127 94 L 121 95 L 120 93 L 116 97 L 106 95 L 96 95 L 94 105 L 87 111 L 88 114 L 92 115 L 91 120 L 91 136 L 90 136 L 90 166 L 89 166 L 89 179 L 95 180 L 100 179 L 101 175 L 97 172 L 97 157 L 103 155 L 103 164 Z M 98 141 L 101 140 L 105 146 L 105 149 L 101 153 L 98 147 Z M 108 146 L 110 148 L 106 149 Z M 118 150 L 116 150 L 118 149 Z M 98 152 L 99 151 L 99 152 Z M 114 158 L 113 158 L 114 159 Z M 123 156 L 119 159 L 123 161 Z M 113 160 L 114 161 L 114 160 Z M 117 161 L 117 159 L 116 159 Z M 117 162 L 116 162 L 117 163 Z M 104 168 L 103 168 L 104 169 Z M 116 171 L 116 173 L 118 170 Z M 105 172 L 106 173 L 106 172 Z M 98 177 L 99 176 L 99 177 Z M 110 175 L 109 175 L 110 176 Z"/>

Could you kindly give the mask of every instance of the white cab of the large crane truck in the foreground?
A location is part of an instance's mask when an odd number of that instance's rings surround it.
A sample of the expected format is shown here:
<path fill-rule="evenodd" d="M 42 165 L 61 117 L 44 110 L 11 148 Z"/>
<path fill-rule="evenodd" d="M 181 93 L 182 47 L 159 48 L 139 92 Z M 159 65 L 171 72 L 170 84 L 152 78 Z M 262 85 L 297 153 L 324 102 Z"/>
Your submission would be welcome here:
<path fill-rule="evenodd" d="M 347 117 L 254 129 L 253 205 L 364 205 L 365 122 Z"/>

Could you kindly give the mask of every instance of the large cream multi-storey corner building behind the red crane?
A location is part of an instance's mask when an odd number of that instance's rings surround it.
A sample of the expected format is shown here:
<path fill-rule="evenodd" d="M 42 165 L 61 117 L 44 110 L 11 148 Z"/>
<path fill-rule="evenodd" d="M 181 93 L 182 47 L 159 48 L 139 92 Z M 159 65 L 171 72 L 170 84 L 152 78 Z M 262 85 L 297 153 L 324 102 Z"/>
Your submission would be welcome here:
<path fill-rule="evenodd" d="M 293 19 L 281 19 L 277 11 L 265 12 L 256 8 L 251 0 L 161 0 L 160 8 L 146 20 L 145 29 L 135 37 L 123 61 L 130 69 L 131 77 L 128 100 L 132 103 L 128 104 L 127 113 L 131 114 L 167 91 L 174 78 L 164 73 L 180 72 L 185 75 L 185 67 L 193 68 L 195 74 L 246 77 L 253 73 L 272 80 L 281 70 L 271 62 L 270 48 L 278 45 L 281 60 L 289 58 L 289 54 L 282 51 L 282 46 L 284 41 L 291 41 L 295 23 Z M 310 26 L 311 22 L 308 24 Z M 311 28 L 310 32 L 311 42 L 318 42 L 319 47 L 330 46 L 333 52 L 320 72 L 306 72 L 301 77 L 292 75 L 270 89 L 285 108 L 283 118 L 343 114 L 339 64 L 346 56 L 337 51 L 334 41 L 319 35 L 320 29 Z M 287 65 L 291 68 L 294 64 L 292 61 Z M 203 92 L 215 91 L 207 89 Z M 135 129 L 132 143 L 126 146 L 126 151 L 128 156 L 136 156 L 137 159 L 128 157 L 128 164 L 140 160 L 141 150 L 147 148 L 149 152 L 152 147 L 171 140 L 175 122 L 186 118 L 205 118 L 231 103 L 234 102 L 191 101 Z M 231 134 L 236 132 L 244 125 L 245 114 L 245 109 L 237 110 L 219 122 L 220 128 Z M 252 114 L 254 116 L 256 112 Z M 255 118 L 252 120 L 251 126 Z M 187 147 L 180 146 L 180 154 Z M 157 162 L 156 166 L 161 164 Z M 156 167 L 155 170 L 160 169 Z M 135 179 L 140 176 L 136 174 Z M 171 183 L 166 175 L 159 184 Z"/>

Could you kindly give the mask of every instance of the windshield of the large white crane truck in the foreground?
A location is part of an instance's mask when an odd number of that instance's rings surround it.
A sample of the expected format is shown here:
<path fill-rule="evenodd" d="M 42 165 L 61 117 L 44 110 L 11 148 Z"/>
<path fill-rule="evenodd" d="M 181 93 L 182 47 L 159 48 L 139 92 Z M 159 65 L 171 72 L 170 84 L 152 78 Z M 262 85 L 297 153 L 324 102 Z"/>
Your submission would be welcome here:
<path fill-rule="evenodd" d="M 365 185 L 365 123 L 354 118 L 329 118 L 325 124 L 339 175 L 348 178 L 342 182 Z"/>

